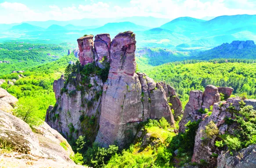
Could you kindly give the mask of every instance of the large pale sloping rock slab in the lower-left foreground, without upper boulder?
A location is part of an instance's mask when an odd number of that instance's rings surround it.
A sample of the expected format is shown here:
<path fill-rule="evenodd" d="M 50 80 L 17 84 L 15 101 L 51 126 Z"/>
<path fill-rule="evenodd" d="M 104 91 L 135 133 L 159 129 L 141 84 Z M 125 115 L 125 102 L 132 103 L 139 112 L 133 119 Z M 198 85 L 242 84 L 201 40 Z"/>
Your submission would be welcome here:
<path fill-rule="evenodd" d="M 21 161 L 33 158 L 32 162 L 34 163 L 39 159 L 41 161 L 55 161 L 59 164 L 75 166 L 74 162 L 69 158 L 73 151 L 65 138 L 46 123 L 37 128 L 37 132 L 33 133 L 29 125 L 23 120 L 0 110 L 0 139 L 10 145 L 13 152 L 18 152 L 10 154 L 14 160 L 16 158 L 14 158 L 15 155 L 20 155 L 22 156 L 20 158 Z M 65 142 L 66 150 L 61 147 L 61 142 Z M 1 157 L 6 159 L 5 156 Z M 10 156 L 7 156 L 7 158 Z M 4 164 L 8 164 L 8 162 L 4 162 Z"/>

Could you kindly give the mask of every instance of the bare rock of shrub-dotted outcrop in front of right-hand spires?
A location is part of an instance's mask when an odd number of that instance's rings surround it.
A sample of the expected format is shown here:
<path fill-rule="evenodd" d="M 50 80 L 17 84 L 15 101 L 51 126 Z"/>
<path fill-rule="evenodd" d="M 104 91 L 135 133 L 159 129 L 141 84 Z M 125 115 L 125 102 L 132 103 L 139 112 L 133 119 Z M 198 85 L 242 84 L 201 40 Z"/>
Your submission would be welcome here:
<path fill-rule="evenodd" d="M 192 162 L 200 163 L 200 160 L 203 159 L 211 163 L 213 167 L 216 165 L 217 160 L 216 158 L 212 157 L 212 154 L 213 153 L 220 154 L 221 150 L 214 145 L 215 140 L 217 140 L 216 136 L 213 136 L 210 139 L 206 137 L 205 135 L 206 126 L 208 126 L 209 123 L 213 121 L 213 123 L 216 125 L 216 128 L 218 128 L 220 135 L 224 133 L 229 133 L 231 135 L 234 135 L 234 130 L 237 129 L 237 126 L 235 124 L 227 125 L 224 119 L 226 117 L 231 118 L 233 116 L 229 110 L 229 107 L 231 105 L 232 107 L 234 107 L 235 110 L 240 110 L 239 102 L 241 101 L 242 101 L 242 98 L 228 98 L 227 101 L 218 102 L 213 105 L 212 115 L 203 119 L 202 122 L 199 124 L 199 128 L 195 137 L 195 147 L 194 147 Z M 254 106 L 256 105 L 255 100 L 248 99 L 246 102 L 248 102 L 248 104 L 246 105 L 254 105 Z M 232 163 L 232 164 L 238 164 L 238 163 Z M 233 168 L 233 167 L 227 166 L 227 168 Z"/>

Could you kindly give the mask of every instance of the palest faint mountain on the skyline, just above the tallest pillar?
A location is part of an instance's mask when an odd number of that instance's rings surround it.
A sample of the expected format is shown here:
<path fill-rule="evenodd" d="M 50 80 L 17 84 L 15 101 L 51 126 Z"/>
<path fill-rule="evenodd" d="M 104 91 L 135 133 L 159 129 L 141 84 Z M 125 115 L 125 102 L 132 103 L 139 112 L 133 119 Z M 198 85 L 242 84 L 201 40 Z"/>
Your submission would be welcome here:
<path fill-rule="evenodd" d="M 170 19 L 166 18 L 154 18 L 154 17 L 140 17 L 140 16 L 133 16 L 133 17 L 127 17 L 127 18 L 121 18 L 116 20 L 116 22 L 126 22 L 130 21 L 133 22 L 136 25 L 142 25 L 150 28 L 156 28 L 159 27 L 167 22 L 170 21 Z"/>

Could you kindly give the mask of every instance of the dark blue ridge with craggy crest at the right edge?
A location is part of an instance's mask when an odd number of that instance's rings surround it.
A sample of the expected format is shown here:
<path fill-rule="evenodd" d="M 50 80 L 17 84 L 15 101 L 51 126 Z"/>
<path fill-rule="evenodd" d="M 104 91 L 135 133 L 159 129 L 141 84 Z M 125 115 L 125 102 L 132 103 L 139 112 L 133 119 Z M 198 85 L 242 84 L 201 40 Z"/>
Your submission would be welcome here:
<path fill-rule="evenodd" d="M 234 59 L 256 59 L 256 45 L 252 40 L 233 41 L 223 43 L 213 49 L 199 52 L 192 59 L 216 59 L 216 58 L 234 58 Z"/>

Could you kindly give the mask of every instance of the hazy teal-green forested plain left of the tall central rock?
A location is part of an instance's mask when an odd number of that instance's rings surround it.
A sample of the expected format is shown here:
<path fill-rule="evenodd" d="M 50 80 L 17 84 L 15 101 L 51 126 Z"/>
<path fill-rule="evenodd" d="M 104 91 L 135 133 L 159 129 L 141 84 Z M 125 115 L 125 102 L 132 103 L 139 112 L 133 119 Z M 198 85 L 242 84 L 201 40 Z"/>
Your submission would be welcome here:
<path fill-rule="evenodd" d="M 28 70 L 32 66 L 49 63 L 67 55 L 69 43 L 56 44 L 31 44 L 30 42 L 4 42 L 0 43 L 0 75 L 12 71 Z"/>

